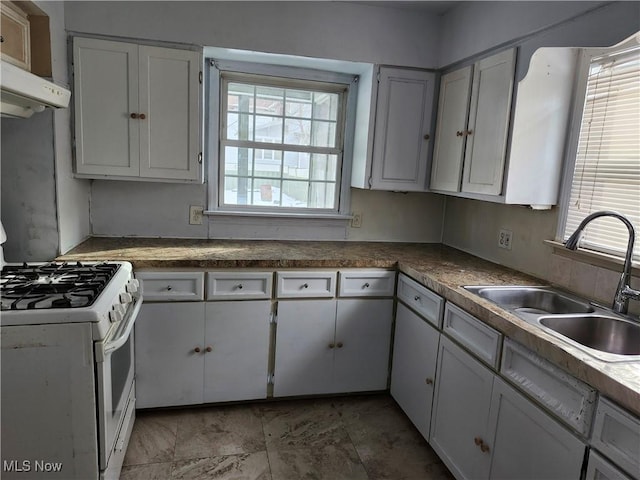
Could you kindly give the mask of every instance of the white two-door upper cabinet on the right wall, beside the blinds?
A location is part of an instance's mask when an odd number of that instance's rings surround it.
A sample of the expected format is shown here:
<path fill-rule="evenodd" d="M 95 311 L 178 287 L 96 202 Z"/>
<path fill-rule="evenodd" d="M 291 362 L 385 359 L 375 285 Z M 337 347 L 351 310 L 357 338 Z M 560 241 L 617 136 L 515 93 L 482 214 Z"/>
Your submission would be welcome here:
<path fill-rule="evenodd" d="M 443 75 L 431 190 L 555 205 L 575 62 L 574 49 L 540 48 L 515 89 L 515 49 Z"/>

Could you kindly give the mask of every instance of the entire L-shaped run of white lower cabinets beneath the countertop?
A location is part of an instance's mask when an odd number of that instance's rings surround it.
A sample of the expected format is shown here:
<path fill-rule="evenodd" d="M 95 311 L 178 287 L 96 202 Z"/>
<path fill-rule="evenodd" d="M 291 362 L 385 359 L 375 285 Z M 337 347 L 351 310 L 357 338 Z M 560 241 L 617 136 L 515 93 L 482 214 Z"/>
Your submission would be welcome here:
<path fill-rule="evenodd" d="M 389 389 L 458 479 L 640 480 L 640 418 L 404 273 L 136 276 L 138 408 Z"/>

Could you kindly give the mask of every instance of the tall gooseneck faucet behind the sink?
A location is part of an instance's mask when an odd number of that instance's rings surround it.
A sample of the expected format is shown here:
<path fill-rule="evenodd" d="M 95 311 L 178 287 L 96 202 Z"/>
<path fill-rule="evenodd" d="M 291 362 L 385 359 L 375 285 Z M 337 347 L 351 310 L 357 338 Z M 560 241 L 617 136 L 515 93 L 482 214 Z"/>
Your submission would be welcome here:
<path fill-rule="evenodd" d="M 618 288 L 616 289 L 616 294 L 613 297 L 613 305 L 612 310 L 616 313 L 624 313 L 626 314 L 629 310 L 629 299 L 639 300 L 640 301 L 640 291 L 634 290 L 631 288 L 631 256 L 633 255 L 633 244 L 636 238 L 636 232 L 633 228 L 633 224 L 629 221 L 627 217 L 621 215 L 616 212 L 611 211 L 600 211 L 594 212 L 591 215 L 588 215 L 580 222 L 576 231 L 567 239 L 565 242 L 565 247 L 569 250 L 575 250 L 578 248 L 578 243 L 580 242 L 580 237 L 582 236 L 582 232 L 584 231 L 584 227 L 587 224 L 596 218 L 599 217 L 613 217 L 620 220 L 624 223 L 629 230 L 629 243 L 627 244 L 627 253 L 624 257 L 624 267 L 622 268 L 622 275 L 620 276 L 620 281 L 618 282 Z"/>

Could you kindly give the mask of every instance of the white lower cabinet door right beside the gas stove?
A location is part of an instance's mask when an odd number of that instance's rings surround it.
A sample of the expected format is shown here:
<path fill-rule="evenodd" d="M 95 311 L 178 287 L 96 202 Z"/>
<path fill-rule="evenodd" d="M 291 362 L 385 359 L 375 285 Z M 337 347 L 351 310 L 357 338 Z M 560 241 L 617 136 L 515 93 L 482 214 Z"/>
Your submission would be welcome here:
<path fill-rule="evenodd" d="M 202 403 L 204 305 L 142 306 L 135 327 L 138 408 Z"/>

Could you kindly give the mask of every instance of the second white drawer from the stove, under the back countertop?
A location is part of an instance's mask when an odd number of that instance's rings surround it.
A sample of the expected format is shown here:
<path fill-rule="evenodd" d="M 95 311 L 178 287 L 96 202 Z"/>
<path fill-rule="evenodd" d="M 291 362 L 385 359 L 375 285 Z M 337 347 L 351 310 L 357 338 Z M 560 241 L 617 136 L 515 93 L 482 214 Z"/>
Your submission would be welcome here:
<path fill-rule="evenodd" d="M 271 272 L 208 272 L 207 300 L 269 299 Z"/>

